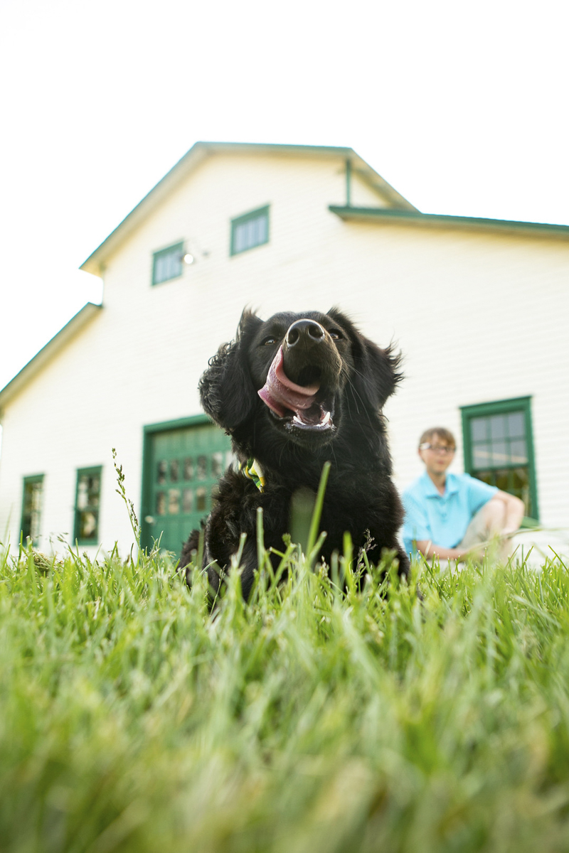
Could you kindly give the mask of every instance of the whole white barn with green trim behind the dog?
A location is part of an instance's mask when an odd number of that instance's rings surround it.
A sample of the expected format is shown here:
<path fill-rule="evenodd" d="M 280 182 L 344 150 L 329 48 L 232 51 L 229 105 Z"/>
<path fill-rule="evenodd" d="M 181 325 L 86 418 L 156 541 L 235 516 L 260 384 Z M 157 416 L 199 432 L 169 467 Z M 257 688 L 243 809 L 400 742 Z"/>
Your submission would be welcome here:
<path fill-rule="evenodd" d="M 457 470 L 568 525 L 569 227 L 423 214 L 351 148 L 197 142 L 82 269 L 102 276 L 102 305 L 0 391 L 0 543 L 128 553 L 116 448 L 143 544 L 177 552 L 229 460 L 196 386 L 244 305 L 340 305 L 398 342 L 400 487 L 440 424 Z"/>

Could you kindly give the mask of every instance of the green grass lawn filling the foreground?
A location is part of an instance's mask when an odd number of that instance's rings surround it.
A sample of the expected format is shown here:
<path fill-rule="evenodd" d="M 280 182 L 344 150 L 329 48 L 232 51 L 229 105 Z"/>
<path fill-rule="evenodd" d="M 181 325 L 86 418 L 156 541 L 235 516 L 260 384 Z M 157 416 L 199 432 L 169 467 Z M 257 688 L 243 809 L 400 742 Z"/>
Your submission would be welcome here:
<path fill-rule="evenodd" d="M 0 557 L 3 853 L 569 849 L 566 566 L 286 559 L 212 618 L 158 554 Z"/>

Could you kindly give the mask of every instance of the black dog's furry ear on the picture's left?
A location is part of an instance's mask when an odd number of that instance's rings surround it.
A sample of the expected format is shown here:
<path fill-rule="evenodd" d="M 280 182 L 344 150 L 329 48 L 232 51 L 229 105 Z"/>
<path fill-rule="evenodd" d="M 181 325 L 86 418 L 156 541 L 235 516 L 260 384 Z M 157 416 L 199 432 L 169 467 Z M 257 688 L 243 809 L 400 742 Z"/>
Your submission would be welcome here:
<path fill-rule="evenodd" d="M 227 432 L 246 421 L 258 401 L 247 364 L 247 345 L 262 323 L 252 311 L 244 310 L 235 340 L 219 347 L 200 379 L 206 414 Z"/>

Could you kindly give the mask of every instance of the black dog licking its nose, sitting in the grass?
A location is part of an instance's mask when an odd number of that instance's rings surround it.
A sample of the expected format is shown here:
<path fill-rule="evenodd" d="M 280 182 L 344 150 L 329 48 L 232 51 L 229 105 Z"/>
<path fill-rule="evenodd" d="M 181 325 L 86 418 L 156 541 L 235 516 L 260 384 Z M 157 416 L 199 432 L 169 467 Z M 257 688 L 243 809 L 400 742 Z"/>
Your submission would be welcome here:
<path fill-rule="evenodd" d="M 203 407 L 231 436 L 241 463 L 220 480 L 205 525 L 204 567 L 214 591 L 245 532 L 241 584 L 247 599 L 257 568 L 257 508 L 264 511 L 265 547 L 282 551 L 294 494 L 316 493 L 328 460 L 322 558 L 329 565 L 349 531 L 356 549 L 368 543 L 370 562 L 389 548 L 397 553 L 399 573 L 409 572 L 397 539 L 403 509 L 381 414 L 401 379 L 399 359 L 391 347 L 382 350 L 364 338 L 336 308 L 276 314 L 266 322 L 243 312 L 235 341 L 219 348 L 200 380 Z M 262 470 L 264 485 L 255 482 L 252 467 Z M 181 566 L 198 542 L 193 531 Z"/>

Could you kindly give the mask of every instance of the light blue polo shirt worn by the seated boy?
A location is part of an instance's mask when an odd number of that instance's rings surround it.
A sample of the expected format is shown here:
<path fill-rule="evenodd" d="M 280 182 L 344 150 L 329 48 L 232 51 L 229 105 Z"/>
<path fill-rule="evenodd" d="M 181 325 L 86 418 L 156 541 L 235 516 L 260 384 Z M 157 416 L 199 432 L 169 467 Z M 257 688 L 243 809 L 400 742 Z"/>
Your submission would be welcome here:
<path fill-rule="evenodd" d="M 473 516 L 496 491 L 495 485 L 483 483 L 470 474 L 448 473 L 441 495 L 427 472 L 423 473 L 403 493 L 402 532 L 407 553 L 411 553 L 414 539 L 428 539 L 442 548 L 456 548 Z"/>

